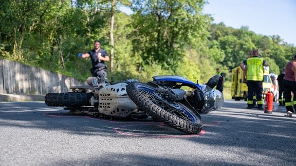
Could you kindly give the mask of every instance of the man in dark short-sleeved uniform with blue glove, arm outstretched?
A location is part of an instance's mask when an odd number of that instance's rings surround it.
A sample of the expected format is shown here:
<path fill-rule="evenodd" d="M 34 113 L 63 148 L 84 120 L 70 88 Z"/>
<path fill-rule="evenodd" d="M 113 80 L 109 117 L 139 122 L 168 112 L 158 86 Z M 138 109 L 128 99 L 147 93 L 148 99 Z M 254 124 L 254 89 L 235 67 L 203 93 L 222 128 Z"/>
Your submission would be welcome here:
<path fill-rule="evenodd" d="M 107 78 L 107 66 L 105 61 L 110 61 L 107 52 L 101 48 L 101 42 L 96 40 L 94 43 L 94 49 L 88 51 L 87 53 L 79 53 L 78 57 L 91 59 L 91 64 L 93 68 L 90 69 L 91 74 L 94 77 L 105 77 Z"/>

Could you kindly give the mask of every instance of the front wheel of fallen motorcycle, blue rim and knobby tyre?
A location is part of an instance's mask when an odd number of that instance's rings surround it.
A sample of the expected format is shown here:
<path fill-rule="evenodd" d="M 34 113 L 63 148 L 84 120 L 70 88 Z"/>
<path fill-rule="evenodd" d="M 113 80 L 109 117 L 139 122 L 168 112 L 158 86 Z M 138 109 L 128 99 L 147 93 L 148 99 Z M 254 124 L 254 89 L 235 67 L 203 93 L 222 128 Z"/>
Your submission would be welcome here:
<path fill-rule="evenodd" d="M 141 82 L 131 82 L 126 92 L 136 105 L 151 116 L 157 116 L 167 124 L 187 134 L 197 134 L 202 130 L 200 115 L 180 101 L 164 99 L 155 88 Z"/>

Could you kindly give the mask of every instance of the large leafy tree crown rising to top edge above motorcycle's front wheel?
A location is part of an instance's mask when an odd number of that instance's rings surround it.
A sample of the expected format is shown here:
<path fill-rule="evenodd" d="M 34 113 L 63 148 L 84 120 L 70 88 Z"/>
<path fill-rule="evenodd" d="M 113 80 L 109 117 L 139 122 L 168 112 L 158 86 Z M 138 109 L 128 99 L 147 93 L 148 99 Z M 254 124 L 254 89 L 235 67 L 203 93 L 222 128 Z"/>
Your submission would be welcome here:
<path fill-rule="evenodd" d="M 208 36 L 210 18 L 202 15 L 204 1 L 134 0 L 131 34 L 134 56 L 143 64 L 159 63 L 176 71 L 188 45 Z"/>

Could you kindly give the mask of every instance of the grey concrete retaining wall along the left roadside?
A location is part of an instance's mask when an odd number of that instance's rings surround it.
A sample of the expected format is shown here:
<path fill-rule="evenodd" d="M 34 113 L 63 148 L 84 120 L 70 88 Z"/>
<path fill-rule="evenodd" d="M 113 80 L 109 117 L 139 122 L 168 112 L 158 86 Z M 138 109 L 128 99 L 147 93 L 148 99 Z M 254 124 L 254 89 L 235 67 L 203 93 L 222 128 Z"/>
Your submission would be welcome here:
<path fill-rule="evenodd" d="M 44 95 L 68 92 L 70 86 L 81 85 L 87 85 L 86 81 L 0 59 L 0 93 L 3 94 Z"/>

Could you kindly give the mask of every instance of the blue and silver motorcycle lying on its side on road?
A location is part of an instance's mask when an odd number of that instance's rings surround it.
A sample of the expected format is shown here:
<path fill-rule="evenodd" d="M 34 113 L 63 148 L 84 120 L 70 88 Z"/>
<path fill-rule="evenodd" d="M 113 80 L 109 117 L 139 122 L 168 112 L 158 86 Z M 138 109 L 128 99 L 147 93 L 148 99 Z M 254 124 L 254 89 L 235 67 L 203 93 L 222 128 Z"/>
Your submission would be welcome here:
<path fill-rule="evenodd" d="M 220 79 L 215 75 L 206 84 L 195 84 L 181 76 L 162 75 L 146 83 L 136 79 L 109 83 L 104 77 L 89 77 L 88 85 L 70 87 L 71 92 L 46 94 L 45 103 L 101 118 L 150 116 L 176 130 L 197 134 L 203 127 L 200 114 L 223 106 L 223 94 L 213 89 Z"/>

